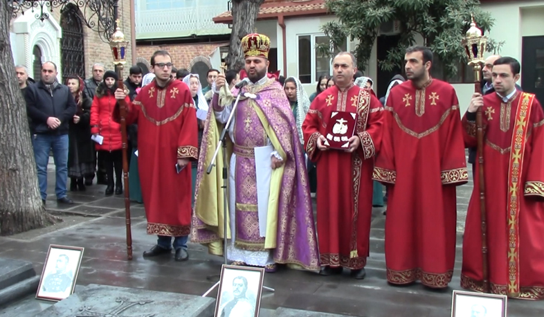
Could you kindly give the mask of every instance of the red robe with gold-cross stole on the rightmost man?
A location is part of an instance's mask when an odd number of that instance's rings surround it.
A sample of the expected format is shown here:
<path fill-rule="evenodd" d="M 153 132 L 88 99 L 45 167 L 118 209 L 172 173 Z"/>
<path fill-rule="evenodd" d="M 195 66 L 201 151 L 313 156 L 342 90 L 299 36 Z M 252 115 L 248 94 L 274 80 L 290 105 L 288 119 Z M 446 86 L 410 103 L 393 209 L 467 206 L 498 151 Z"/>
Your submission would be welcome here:
<path fill-rule="evenodd" d="M 482 110 L 490 290 L 544 299 L 544 112 L 534 95 L 520 92 L 506 103 L 496 93 L 484 96 Z M 475 147 L 475 123 L 465 116 L 463 125 L 466 146 Z M 479 167 L 461 275 L 461 286 L 472 291 L 483 291 Z"/>

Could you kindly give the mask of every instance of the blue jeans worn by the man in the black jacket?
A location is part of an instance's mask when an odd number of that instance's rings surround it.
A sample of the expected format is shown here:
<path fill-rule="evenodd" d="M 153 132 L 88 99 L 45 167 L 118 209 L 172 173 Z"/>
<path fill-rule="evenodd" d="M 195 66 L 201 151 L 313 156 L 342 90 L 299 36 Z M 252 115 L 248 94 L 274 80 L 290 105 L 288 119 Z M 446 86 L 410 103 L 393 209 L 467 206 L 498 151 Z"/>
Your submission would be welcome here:
<path fill-rule="evenodd" d="M 49 150 L 53 150 L 55 161 L 55 194 L 57 199 L 66 197 L 66 181 L 68 179 L 68 134 L 54 136 L 50 134 L 34 134 L 32 136 L 34 159 L 38 170 L 39 192 L 42 199 L 47 198 L 47 163 Z"/>

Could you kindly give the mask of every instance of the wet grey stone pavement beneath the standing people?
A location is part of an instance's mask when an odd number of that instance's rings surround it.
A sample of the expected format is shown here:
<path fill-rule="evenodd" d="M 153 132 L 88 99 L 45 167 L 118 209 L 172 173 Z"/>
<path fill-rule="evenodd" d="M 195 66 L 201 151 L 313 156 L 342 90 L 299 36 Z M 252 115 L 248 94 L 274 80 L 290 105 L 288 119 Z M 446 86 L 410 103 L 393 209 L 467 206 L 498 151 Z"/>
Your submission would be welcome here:
<path fill-rule="evenodd" d="M 54 167 L 51 163 L 49 167 L 48 193 L 52 196 L 48 197 L 46 208 L 61 215 L 65 221 L 29 233 L 0 237 L 0 257 L 31 261 L 39 274 L 49 244 L 83 246 L 85 251 L 78 285 L 105 284 L 201 295 L 217 281 L 210 275 L 219 274 L 223 259 L 208 255 L 206 249 L 197 244 L 190 244 L 188 262 L 175 262 L 173 257 L 144 260 L 141 256 L 143 251 L 155 244 L 156 237 L 145 234 L 145 212 L 138 203 L 132 203 L 131 207 L 134 260 L 128 261 L 123 197 L 105 197 L 105 185 L 92 185 L 86 192 L 69 193 L 75 204 L 57 205 Z M 322 277 L 312 272 L 280 269 L 277 273 L 265 275 L 264 284 L 274 288 L 275 293 L 264 291 L 262 308 L 287 307 L 364 317 L 450 316 L 451 291 L 460 289 L 460 246 L 471 187 L 469 183 L 457 191 L 457 258 L 449 289 L 436 291 L 420 284 L 392 287 L 386 282 L 383 254 L 385 216 L 382 215 L 383 208 L 374 208 L 365 280 L 353 280 L 347 272 L 340 276 Z M 215 298 L 217 291 L 212 291 L 209 296 Z M 0 308 L 0 316 L 34 316 L 50 305 L 28 296 L 7 308 Z M 508 312 L 510 317 L 544 316 L 544 301 L 509 300 Z"/>

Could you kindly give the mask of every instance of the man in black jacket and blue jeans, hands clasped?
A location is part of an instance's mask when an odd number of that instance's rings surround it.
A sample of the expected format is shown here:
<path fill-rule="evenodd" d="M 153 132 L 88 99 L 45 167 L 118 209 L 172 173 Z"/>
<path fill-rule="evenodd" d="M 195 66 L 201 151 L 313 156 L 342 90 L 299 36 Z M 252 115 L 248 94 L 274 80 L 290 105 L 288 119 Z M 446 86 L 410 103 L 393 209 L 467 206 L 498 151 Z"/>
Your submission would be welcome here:
<path fill-rule="evenodd" d="M 49 151 L 53 150 L 57 201 L 71 204 L 73 201 L 66 196 L 68 129 L 76 108 L 70 89 L 57 82 L 57 65 L 42 64 L 42 80 L 26 89 L 25 100 L 32 120 L 30 131 L 42 201 L 45 203 L 47 198 L 47 163 Z"/>

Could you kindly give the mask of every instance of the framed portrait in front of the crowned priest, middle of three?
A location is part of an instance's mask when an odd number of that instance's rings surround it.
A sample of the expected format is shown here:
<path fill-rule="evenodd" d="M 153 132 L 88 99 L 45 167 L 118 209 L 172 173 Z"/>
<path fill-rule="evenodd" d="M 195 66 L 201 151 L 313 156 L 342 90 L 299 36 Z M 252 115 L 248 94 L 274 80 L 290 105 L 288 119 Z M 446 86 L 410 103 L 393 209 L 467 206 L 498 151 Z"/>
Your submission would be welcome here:
<path fill-rule="evenodd" d="M 214 317 L 258 317 L 263 280 L 264 268 L 223 264 Z"/>

